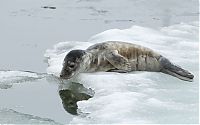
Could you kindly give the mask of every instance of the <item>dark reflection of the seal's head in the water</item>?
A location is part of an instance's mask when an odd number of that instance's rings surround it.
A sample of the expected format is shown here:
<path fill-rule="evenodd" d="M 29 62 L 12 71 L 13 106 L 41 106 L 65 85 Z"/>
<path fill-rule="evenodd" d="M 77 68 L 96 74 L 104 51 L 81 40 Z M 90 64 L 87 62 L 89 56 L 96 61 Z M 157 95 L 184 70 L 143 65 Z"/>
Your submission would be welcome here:
<path fill-rule="evenodd" d="M 92 89 L 85 88 L 80 83 L 68 82 L 60 84 L 59 95 L 62 99 L 64 109 L 70 114 L 77 115 L 77 102 L 88 100 L 94 95 Z"/>

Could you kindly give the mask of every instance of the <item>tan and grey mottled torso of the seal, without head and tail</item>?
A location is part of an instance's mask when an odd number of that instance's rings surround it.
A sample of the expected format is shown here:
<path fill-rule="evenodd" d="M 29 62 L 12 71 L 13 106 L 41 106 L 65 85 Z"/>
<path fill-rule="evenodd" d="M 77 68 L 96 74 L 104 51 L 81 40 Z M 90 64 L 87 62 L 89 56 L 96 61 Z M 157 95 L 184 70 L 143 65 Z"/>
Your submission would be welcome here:
<path fill-rule="evenodd" d="M 104 42 L 89 47 L 92 62 L 88 71 L 160 71 L 160 54 L 136 44 Z"/>

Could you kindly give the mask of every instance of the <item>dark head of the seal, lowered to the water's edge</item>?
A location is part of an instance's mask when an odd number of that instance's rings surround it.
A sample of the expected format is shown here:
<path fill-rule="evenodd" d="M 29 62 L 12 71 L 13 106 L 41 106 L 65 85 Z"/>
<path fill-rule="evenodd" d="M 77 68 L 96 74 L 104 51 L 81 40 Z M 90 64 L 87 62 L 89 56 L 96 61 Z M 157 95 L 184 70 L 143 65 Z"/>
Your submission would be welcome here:
<path fill-rule="evenodd" d="M 70 51 L 63 62 L 63 68 L 60 73 L 60 78 L 69 79 L 78 74 L 83 64 L 83 58 L 86 52 L 84 50 L 72 50 Z"/>

